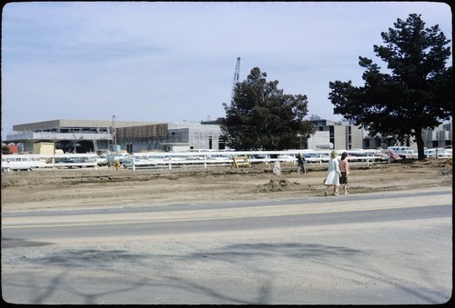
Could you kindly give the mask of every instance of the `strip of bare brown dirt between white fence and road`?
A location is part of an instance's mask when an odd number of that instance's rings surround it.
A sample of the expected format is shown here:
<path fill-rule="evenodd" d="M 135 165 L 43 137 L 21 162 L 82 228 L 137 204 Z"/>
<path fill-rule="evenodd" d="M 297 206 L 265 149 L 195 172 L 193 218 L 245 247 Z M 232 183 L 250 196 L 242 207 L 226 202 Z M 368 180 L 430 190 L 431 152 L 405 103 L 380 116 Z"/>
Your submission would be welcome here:
<path fill-rule="evenodd" d="M 100 167 L 2 173 L 2 212 L 324 195 L 327 164 L 308 164 L 307 174 L 298 174 L 295 164 L 281 164 L 279 175 L 272 167 L 136 171 Z M 451 161 L 351 163 L 350 169 L 349 194 L 452 186 Z"/>

